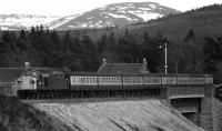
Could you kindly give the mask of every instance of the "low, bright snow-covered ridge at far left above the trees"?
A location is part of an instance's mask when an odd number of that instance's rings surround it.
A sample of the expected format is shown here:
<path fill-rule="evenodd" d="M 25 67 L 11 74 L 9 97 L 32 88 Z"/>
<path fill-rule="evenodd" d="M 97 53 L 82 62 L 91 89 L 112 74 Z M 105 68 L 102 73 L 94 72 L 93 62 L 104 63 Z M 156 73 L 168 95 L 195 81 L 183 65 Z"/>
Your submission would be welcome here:
<path fill-rule="evenodd" d="M 0 14 L 0 30 L 21 30 L 58 19 L 37 14 Z"/>

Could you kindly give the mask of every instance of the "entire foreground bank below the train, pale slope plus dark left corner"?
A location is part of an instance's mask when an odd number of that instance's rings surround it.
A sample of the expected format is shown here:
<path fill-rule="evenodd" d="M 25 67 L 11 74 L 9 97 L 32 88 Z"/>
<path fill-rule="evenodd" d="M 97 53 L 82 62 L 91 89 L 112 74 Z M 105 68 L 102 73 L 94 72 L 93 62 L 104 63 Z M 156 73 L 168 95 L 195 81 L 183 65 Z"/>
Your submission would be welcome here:
<path fill-rule="evenodd" d="M 22 101 L 0 95 L 0 131 L 203 131 L 158 99 Z"/>

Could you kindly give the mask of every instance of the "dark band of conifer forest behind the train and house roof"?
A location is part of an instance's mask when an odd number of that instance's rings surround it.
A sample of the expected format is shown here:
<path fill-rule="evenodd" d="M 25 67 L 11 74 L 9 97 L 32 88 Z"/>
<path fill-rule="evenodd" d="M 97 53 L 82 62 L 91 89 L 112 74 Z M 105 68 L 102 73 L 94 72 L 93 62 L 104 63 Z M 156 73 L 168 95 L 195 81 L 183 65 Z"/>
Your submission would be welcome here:
<path fill-rule="evenodd" d="M 0 39 L 0 66 L 21 67 L 26 61 L 36 67 L 70 68 L 72 71 L 97 71 L 102 58 L 108 62 L 139 63 L 148 60 L 153 73 L 164 72 L 164 43 L 168 43 L 169 73 L 211 73 L 221 81 L 222 36 L 196 37 L 190 29 L 182 40 L 173 41 L 161 31 L 150 36 L 147 31 L 134 34 L 104 32 L 98 40 L 87 33 L 58 34 L 42 27 L 3 31 Z"/>

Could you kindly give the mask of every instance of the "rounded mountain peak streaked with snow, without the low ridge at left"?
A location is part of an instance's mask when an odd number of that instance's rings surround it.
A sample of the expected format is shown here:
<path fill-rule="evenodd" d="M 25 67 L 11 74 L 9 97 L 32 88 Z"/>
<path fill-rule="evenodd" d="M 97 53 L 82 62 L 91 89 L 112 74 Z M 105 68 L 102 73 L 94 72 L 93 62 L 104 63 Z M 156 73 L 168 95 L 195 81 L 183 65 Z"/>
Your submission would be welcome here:
<path fill-rule="evenodd" d="M 104 28 L 125 26 L 134 22 L 143 22 L 180 11 L 161 6 L 155 2 L 123 2 L 108 4 L 85 12 L 68 22 L 59 26 L 58 30 L 71 30 L 81 28 Z"/>

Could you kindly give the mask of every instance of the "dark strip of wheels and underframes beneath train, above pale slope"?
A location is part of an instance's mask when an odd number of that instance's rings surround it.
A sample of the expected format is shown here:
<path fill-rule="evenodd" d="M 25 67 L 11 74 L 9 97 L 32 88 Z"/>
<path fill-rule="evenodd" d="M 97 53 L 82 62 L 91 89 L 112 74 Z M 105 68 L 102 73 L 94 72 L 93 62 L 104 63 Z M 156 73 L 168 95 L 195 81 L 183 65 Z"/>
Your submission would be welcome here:
<path fill-rule="evenodd" d="M 94 99 L 94 98 L 158 98 L 160 89 L 143 90 L 40 90 L 40 91 L 18 91 L 21 100 L 60 100 L 60 99 Z"/>

